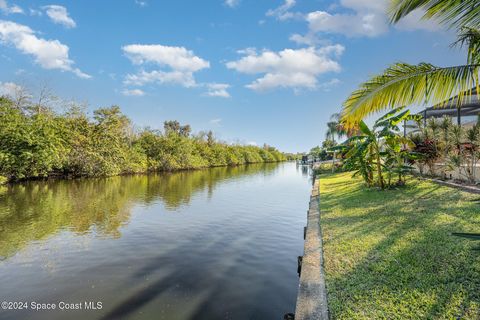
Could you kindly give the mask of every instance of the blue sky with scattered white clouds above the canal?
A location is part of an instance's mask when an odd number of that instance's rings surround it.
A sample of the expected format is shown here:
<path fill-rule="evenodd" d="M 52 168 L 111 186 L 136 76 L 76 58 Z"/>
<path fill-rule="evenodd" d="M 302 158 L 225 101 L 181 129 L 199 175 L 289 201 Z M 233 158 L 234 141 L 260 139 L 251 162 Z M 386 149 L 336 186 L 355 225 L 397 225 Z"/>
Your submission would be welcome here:
<path fill-rule="evenodd" d="M 462 64 L 454 34 L 383 0 L 0 0 L 0 94 L 44 85 L 139 127 L 176 119 L 228 142 L 307 151 L 393 62 Z"/>

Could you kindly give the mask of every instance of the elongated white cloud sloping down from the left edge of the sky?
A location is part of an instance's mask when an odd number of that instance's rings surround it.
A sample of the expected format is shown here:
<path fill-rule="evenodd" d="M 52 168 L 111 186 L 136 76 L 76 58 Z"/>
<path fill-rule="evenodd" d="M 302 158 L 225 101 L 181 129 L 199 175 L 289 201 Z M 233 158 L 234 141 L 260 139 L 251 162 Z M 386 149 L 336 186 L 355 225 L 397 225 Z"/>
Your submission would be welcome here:
<path fill-rule="evenodd" d="M 80 78 L 91 77 L 73 67 L 74 61 L 68 56 L 68 46 L 58 40 L 38 38 L 35 32 L 25 25 L 0 20 L 0 42 L 33 56 L 42 68 L 73 72 Z"/>

